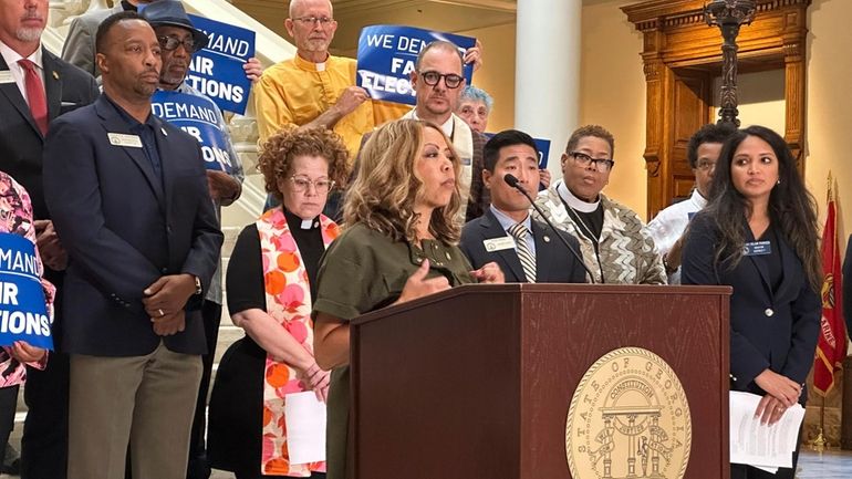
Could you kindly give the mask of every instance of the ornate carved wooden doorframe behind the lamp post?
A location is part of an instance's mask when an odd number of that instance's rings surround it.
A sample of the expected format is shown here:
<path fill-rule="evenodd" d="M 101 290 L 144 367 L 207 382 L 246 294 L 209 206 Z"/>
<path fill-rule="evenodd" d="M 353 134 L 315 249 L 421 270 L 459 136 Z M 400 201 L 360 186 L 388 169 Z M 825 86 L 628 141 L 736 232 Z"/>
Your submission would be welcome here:
<path fill-rule="evenodd" d="M 685 195 L 693 175 L 684 148 L 685 126 L 710 118 L 713 92 L 696 84 L 721 71 L 721 34 L 704 20 L 705 0 L 650 0 L 622 8 L 644 35 L 642 59 L 647 86 L 645 166 L 647 212 Z M 751 25 L 737 38 L 739 71 L 783 69 L 785 138 L 803 169 L 807 10 L 811 0 L 758 0 Z M 700 81 L 698 83 L 703 83 Z M 705 82 L 706 83 L 706 82 Z M 695 94 L 698 110 L 678 111 L 684 92 Z M 678 93 L 679 92 L 679 93 Z M 703 96 L 704 95 L 704 96 Z M 694 105 L 695 106 L 695 105 Z M 742 118 L 748 124 L 748 118 Z M 687 137 L 688 139 L 688 137 Z"/>

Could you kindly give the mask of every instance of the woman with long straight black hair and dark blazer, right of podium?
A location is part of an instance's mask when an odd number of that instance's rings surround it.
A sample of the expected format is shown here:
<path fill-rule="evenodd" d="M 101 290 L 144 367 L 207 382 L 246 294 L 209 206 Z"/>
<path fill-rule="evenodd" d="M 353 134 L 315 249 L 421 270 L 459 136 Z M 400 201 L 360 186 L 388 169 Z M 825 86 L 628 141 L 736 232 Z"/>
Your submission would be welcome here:
<path fill-rule="evenodd" d="M 797 402 L 813 363 L 822 270 L 817 207 L 777 133 L 751 126 L 725 143 L 709 205 L 693 219 L 684 284 L 726 284 L 732 391 L 762 396 L 755 414 L 775 424 Z M 731 478 L 792 478 L 731 465 Z"/>

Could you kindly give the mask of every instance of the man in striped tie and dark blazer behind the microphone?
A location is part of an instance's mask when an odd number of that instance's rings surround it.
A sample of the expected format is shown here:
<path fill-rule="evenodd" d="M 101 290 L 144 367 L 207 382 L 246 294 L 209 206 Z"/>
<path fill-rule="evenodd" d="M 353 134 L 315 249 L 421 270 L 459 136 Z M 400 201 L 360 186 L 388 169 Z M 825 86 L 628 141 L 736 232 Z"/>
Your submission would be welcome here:
<path fill-rule="evenodd" d="M 486 143 L 482 159 L 482 180 L 491 205 L 465 225 L 459 244 L 474 268 L 495 261 L 506 282 L 584 283 L 583 265 L 555 237 L 558 232 L 532 220 L 530 201 L 503 179 L 511 174 L 534 194 L 541 177 L 532 137 L 517 129 L 500 132 Z M 579 250 L 574 238 L 562 237 Z"/>

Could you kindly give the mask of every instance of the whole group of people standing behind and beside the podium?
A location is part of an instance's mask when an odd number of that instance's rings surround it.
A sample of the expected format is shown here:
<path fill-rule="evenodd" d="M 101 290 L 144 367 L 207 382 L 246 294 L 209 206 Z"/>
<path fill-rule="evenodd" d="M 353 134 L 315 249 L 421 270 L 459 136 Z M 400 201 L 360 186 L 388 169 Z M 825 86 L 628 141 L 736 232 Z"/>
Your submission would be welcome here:
<path fill-rule="evenodd" d="M 37 248 L 55 344 L 0 351 L 0 444 L 27 379 L 24 479 L 206 479 L 211 467 L 345 479 L 350 322 L 467 283 L 731 285 L 731 389 L 761 395 L 770 424 L 807 398 L 817 207 L 778 134 L 703 127 L 688 147 L 694 192 L 646 226 L 603 192 L 617 171 L 603 126 L 571 134 L 552 183 L 530 135 L 484 135 L 493 101 L 463 76 L 481 45 L 425 45 L 415 106 L 375 101 L 355 86 L 355 61 L 329 53 L 331 2 L 292 0 L 297 54 L 245 66 L 270 198 L 226 273 L 246 336 L 222 357 L 206 425 L 220 209 L 243 170 L 232 145 L 230 171 L 206 169 L 198 142 L 152 114 L 152 95 L 202 95 L 185 79 L 207 37 L 179 1 L 123 0 L 74 21 L 63 60 L 41 43 L 48 3 L 0 3 L 0 233 Z M 290 460 L 294 393 L 328 405 L 324 461 Z"/>

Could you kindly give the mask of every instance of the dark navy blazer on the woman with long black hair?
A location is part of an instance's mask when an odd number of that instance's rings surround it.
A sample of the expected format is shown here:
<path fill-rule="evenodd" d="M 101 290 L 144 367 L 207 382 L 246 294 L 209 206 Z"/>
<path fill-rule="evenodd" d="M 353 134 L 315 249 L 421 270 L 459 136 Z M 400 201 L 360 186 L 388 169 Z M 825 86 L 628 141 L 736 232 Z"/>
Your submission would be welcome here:
<path fill-rule="evenodd" d="M 744 222 L 746 241 L 755 241 Z M 775 293 L 769 272 L 755 257 L 729 270 L 714 260 L 719 241 L 713 219 L 699 212 L 689 225 L 683 252 L 683 284 L 726 284 L 730 298 L 731 389 L 763 394 L 755 377 L 769 368 L 799 384 L 813 365 L 822 314 L 820 296 L 808 283 L 799 257 L 778 231 L 783 280 Z M 802 393 L 802 399 L 807 398 Z"/>

